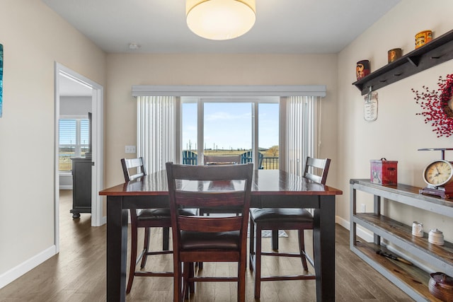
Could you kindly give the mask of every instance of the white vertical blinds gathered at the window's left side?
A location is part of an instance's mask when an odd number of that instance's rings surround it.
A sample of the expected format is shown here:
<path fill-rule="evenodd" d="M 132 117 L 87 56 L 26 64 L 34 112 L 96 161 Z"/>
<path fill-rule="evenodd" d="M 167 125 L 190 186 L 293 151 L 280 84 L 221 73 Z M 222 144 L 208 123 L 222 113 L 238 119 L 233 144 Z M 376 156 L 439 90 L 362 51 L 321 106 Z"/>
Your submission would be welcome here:
<path fill-rule="evenodd" d="M 143 156 L 148 174 L 176 162 L 175 135 L 176 97 L 137 97 L 137 157 Z"/>

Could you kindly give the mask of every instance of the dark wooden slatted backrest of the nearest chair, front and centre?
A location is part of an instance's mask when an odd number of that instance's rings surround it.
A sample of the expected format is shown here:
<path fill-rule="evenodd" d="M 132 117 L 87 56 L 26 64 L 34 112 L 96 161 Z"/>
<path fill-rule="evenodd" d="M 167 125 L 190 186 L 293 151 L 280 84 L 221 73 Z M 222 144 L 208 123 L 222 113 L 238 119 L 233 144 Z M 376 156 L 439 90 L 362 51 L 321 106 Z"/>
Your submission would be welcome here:
<path fill-rule="evenodd" d="M 180 250 L 180 231 L 240 231 L 246 243 L 253 164 L 175 165 L 166 163 L 173 246 Z M 241 208 L 240 216 L 183 216 L 179 208 Z M 246 250 L 246 248 L 244 249 Z"/>

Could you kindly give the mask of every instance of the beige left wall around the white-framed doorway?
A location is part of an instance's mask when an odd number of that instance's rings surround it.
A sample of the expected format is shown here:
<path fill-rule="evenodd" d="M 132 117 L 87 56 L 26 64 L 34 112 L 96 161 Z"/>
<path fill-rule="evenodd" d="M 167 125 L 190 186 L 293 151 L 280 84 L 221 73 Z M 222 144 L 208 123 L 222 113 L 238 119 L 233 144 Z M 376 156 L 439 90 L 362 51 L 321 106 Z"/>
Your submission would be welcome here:
<path fill-rule="evenodd" d="M 105 54 L 41 1 L 1 1 L 0 28 L 2 277 L 54 245 L 54 64 L 105 85 Z"/>

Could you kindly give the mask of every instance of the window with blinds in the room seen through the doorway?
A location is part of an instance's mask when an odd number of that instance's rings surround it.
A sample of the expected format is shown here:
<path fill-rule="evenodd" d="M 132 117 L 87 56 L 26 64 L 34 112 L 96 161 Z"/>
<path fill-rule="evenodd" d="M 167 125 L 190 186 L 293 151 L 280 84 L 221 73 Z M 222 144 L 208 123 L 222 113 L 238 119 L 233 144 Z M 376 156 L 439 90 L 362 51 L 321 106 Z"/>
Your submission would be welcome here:
<path fill-rule="evenodd" d="M 80 118 L 59 120 L 59 171 L 72 169 L 71 158 L 82 157 L 89 148 L 89 121 Z"/>

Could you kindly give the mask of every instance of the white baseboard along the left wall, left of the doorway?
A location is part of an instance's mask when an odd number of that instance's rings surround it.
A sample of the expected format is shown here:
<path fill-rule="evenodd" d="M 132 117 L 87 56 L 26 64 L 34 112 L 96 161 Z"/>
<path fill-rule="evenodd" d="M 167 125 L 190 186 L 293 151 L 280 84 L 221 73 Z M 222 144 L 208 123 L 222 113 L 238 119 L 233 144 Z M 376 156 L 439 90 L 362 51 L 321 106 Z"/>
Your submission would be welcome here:
<path fill-rule="evenodd" d="M 30 272 L 30 270 L 34 269 L 42 262 L 45 262 L 45 260 L 54 256 L 56 253 L 55 245 L 52 245 L 50 248 L 43 250 L 38 255 L 35 255 L 25 262 L 22 262 L 20 265 L 17 265 L 3 274 L 0 274 L 0 289 L 18 279 L 18 277 L 21 277 L 23 274 Z"/>

